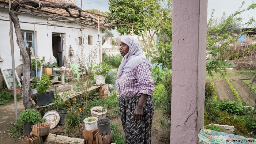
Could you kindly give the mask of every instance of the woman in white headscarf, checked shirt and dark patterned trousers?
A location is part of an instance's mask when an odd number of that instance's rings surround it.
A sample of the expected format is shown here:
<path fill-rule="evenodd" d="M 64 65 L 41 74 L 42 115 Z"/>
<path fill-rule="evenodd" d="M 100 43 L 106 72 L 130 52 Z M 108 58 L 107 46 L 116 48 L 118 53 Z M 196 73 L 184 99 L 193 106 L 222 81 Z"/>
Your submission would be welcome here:
<path fill-rule="evenodd" d="M 124 58 L 117 71 L 116 86 L 125 143 L 150 144 L 155 90 L 150 63 L 139 41 L 131 36 L 121 40 L 120 53 Z"/>

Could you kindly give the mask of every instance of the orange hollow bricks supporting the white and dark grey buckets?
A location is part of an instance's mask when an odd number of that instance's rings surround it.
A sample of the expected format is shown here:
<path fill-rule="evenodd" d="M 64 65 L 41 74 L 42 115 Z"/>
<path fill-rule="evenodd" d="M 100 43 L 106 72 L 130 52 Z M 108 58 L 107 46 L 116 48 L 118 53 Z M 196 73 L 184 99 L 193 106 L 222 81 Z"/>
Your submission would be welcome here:
<path fill-rule="evenodd" d="M 108 135 L 101 136 L 99 130 L 83 130 L 85 144 L 110 144 L 113 138 L 113 130 Z"/>

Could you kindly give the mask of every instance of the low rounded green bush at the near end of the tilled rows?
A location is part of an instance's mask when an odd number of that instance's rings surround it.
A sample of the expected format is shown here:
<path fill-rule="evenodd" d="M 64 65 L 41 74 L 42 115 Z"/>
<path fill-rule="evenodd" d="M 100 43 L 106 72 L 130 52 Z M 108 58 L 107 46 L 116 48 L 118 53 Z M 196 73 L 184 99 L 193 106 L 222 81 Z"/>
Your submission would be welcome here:
<path fill-rule="evenodd" d="M 217 108 L 221 111 L 225 111 L 227 113 L 242 115 L 244 114 L 244 108 L 242 105 L 235 101 L 230 101 L 225 99 L 224 101 L 219 101 Z"/>

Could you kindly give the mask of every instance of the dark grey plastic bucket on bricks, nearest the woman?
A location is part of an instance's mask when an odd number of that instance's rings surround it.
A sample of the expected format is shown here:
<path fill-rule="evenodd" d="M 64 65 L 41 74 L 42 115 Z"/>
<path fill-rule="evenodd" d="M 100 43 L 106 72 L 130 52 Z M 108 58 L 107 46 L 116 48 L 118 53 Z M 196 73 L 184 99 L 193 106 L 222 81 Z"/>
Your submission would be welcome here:
<path fill-rule="evenodd" d="M 103 118 L 97 121 L 99 128 L 99 134 L 104 136 L 110 133 L 110 120 L 108 118 Z"/>

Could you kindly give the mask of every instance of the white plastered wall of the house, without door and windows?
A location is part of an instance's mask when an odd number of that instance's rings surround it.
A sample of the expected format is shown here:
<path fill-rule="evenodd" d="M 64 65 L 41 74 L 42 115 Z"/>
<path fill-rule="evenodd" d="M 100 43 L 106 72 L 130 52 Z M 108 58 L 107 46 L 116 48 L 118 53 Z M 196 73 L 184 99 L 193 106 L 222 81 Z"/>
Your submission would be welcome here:
<path fill-rule="evenodd" d="M 3 10 L 0 8 L 0 19 L 9 20 L 8 11 Z M 4 18 L 4 17 L 7 18 Z M 19 14 L 18 15 L 20 22 L 35 22 L 41 24 L 47 21 L 47 18 L 36 17 L 32 15 L 26 14 Z M 51 22 L 54 24 L 53 22 Z M 65 24 L 59 24 L 62 26 L 67 26 Z M 14 26 L 13 26 L 14 27 Z M 35 48 L 37 48 L 37 56 L 41 59 L 45 56 L 45 61 L 48 61 L 50 55 L 52 54 L 52 33 L 61 33 L 63 34 L 63 49 L 64 49 L 64 56 L 65 56 L 65 65 L 67 64 L 76 64 L 75 56 L 69 56 L 69 48 L 70 46 L 74 50 L 74 55 L 78 54 L 80 51 L 81 45 L 78 45 L 79 37 L 84 37 L 84 53 L 86 56 L 89 56 L 89 49 L 97 50 L 97 58 L 95 58 L 95 62 L 99 63 L 99 45 L 98 45 L 98 30 L 97 29 L 84 29 L 83 35 L 80 29 L 71 29 L 67 27 L 56 27 L 56 26 L 45 26 L 35 24 L 35 31 L 37 38 L 35 39 Z M 73 26 L 74 27 L 74 26 Z M 21 30 L 30 30 L 34 31 L 34 25 L 28 23 L 20 23 Z M 14 30 L 14 28 L 13 28 Z M 9 21 L 2 21 L 0 20 L 0 57 L 3 58 L 4 61 L 0 61 L 0 68 L 11 68 L 12 61 L 11 61 L 11 49 L 10 49 L 10 22 Z M 47 35 L 48 34 L 48 35 Z M 87 35 L 93 36 L 93 45 L 87 44 Z M 100 37 L 101 41 L 101 37 Z M 20 57 L 20 49 L 16 43 L 16 34 L 14 30 L 14 55 L 15 55 L 15 67 L 18 67 L 22 64 L 22 58 Z M 18 72 L 17 72 L 18 73 Z M 1 84 L 0 84 L 1 86 Z"/>

